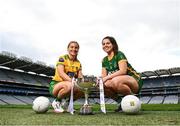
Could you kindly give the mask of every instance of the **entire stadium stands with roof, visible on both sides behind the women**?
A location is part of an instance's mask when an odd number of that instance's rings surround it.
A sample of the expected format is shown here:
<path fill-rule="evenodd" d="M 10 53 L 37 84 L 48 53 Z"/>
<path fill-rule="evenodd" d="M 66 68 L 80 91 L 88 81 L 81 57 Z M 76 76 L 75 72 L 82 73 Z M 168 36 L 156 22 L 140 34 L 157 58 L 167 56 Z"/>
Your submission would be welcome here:
<path fill-rule="evenodd" d="M 49 82 L 54 74 L 54 67 L 41 61 L 33 62 L 30 58 L 20 57 L 2 51 L 0 53 L 0 105 L 32 104 L 37 96 L 49 95 Z M 180 67 L 145 71 L 141 73 L 144 81 L 139 95 L 143 104 L 179 104 L 180 103 Z M 94 78 L 94 76 L 92 76 Z M 91 104 L 99 104 L 99 92 L 91 91 Z M 105 98 L 107 104 L 116 104 Z M 75 101 L 82 104 L 84 99 Z"/>

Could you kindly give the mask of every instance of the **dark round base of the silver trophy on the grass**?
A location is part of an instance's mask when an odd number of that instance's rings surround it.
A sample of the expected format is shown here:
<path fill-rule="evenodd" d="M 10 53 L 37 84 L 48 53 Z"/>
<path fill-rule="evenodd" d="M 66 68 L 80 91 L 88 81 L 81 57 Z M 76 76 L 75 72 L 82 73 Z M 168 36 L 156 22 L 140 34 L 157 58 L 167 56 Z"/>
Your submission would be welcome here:
<path fill-rule="evenodd" d="M 83 105 L 80 108 L 80 115 L 93 115 L 92 106 L 90 105 Z"/>

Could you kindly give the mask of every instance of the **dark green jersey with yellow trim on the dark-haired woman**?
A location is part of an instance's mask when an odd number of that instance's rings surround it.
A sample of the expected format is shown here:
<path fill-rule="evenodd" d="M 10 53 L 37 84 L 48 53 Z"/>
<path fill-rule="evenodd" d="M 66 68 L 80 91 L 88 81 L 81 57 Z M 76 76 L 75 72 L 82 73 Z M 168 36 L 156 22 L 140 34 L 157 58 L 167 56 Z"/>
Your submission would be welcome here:
<path fill-rule="evenodd" d="M 107 70 L 107 74 L 109 75 L 119 70 L 118 63 L 121 61 L 127 62 L 127 74 L 133 76 L 136 80 L 139 80 L 140 74 L 137 73 L 131 64 L 128 63 L 126 56 L 121 51 L 118 51 L 118 53 L 114 55 L 111 60 L 108 60 L 108 56 L 104 57 L 102 61 L 102 67 Z"/>

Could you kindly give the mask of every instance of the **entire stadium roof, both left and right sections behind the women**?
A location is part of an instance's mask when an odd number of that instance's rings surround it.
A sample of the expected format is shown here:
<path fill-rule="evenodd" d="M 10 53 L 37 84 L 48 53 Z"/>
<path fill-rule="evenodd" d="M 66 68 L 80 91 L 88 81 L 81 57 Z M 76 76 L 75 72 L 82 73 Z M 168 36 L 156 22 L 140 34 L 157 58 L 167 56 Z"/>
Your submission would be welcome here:
<path fill-rule="evenodd" d="M 54 67 L 47 66 L 44 62 L 33 62 L 30 58 L 27 57 L 18 58 L 15 54 L 6 51 L 2 51 L 0 53 L 0 66 L 11 69 L 19 69 L 25 72 L 44 74 L 47 76 L 53 76 L 55 70 Z M 155 71 L 144 71 L 141 73 L 143 78 L 171 76 L 173 74 L 180 74 L 180 67 L 159 69 Z"/>

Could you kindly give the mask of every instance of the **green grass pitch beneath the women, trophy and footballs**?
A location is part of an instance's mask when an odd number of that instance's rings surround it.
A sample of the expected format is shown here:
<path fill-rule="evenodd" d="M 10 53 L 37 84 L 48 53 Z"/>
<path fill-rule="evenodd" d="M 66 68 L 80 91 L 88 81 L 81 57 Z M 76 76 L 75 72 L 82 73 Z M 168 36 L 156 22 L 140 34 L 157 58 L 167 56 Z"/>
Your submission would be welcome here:
<path fill-rule="evenodd" d="M 53 113 L 52 108 L 45 114 L 36 114 L 31 106 L 1 105 L 0 125 L 180 125 L 180 104 L 143 104 L 136 115 L 115 113 L 116 105 L 106 108 L 107 114 L 99 111 L 99 105 L 93 105 L 94 115 L 79 115 L 78 111 L 71 115 Z"/>

